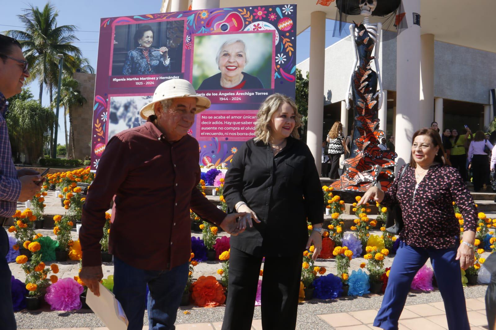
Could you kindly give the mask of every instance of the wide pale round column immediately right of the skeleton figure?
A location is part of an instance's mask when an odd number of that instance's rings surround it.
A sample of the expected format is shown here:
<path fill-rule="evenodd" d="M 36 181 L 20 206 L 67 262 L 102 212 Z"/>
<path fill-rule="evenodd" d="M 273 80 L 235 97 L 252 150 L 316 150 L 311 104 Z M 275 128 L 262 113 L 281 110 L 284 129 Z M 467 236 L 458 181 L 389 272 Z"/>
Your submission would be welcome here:
<path fill-rule="evenodd" d="M 401 29 L 396 38 L 396 171 L 410 161 L 412 136 L 419 129 L 420 107 L 420 25 L 413 24 L 413 14 L 420 14 L 420 0 L 402 2 L 408 28 Z"/>

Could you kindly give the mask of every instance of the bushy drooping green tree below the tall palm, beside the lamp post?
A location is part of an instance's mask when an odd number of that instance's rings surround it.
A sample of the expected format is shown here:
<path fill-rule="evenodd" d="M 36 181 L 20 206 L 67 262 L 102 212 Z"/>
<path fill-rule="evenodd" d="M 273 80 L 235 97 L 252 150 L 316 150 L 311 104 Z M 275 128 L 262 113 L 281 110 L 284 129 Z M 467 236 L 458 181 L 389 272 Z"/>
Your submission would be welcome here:
<path fill-rule="evenodd" d="M 43 156 L 43 146 L 50 139 L 50 127 L 55 124 L 53 111 L 33 99 L 19 98 L 9 106 L 6 122 L 12 154 L 24 152 L 26 163 L 37 162 Z"/>

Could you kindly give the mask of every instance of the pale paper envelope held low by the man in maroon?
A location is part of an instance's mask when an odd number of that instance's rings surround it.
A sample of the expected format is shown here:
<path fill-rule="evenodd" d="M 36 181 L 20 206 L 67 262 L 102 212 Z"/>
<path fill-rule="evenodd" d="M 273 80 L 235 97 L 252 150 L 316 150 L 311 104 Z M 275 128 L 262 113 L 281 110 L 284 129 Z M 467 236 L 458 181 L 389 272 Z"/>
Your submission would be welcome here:
<path fill-rule="evenodd" d="M 86 304 L 102 320 L 109 330 L 127 330 L 129 321 L 125 316 L 121 303 L 102 283 L 98 283 L 100 296 L 90 290 L 86 293 Z"/>

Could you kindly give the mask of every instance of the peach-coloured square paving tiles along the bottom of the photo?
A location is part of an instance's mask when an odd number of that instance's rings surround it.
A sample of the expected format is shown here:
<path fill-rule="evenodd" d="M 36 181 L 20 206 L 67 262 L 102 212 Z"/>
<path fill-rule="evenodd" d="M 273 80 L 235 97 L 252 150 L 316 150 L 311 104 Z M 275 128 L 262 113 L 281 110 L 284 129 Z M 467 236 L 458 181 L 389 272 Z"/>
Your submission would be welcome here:
<path fill-rule="evenodd" d="M 467 299 L 467 313 L 471 326 L 471 330 L 488 330 L 488 321 L 486 318 L 486 305 L 484 297 Z M 371 330 L 377 329 L 372 326 L 373 319 L 377 314 L 376 309 L 318 315 L 325 321 L 329 328 L 335 330 Z M 212 323 L 192 323 L 178 324 L 177 330 L 220 330 L 222 322 Z M 143 330 L 147 330 L 148 326 L 144 326 Z M 260 320 L 253 320 L 252 330 L 262 330 Z M 399 320 L 399 330 L 445 330 L 448 329 L 446 322 L 446 314 L 442 302 L 434 302 L 429 304 L 409 305 L 405 306 Z M 48 329 L 44 329 L 48 330 Z M 99 328 L 59 328 L 52 330 L 108 330 L 105 327 Z"/>

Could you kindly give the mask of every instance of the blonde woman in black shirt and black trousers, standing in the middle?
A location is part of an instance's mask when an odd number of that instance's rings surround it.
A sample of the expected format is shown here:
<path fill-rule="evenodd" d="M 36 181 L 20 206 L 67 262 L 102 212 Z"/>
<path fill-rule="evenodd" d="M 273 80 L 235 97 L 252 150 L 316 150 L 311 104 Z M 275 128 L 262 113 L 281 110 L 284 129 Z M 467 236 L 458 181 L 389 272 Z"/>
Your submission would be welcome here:
<path fill-rule="evenodd" d="M 295 102 L 270 95 L 257 117 L 255 138 L 235 154 L 224 184 L 230 211 L 250 217 L 239 222 L 246 230 L 231 237 L 223 330 L 251 329 L 263 257 L 262 327 L 295 329 L 303 251 L 313 243 L 316 259 L 322 246 L 322 191 L 310 149 L 299 140 Z"/>

